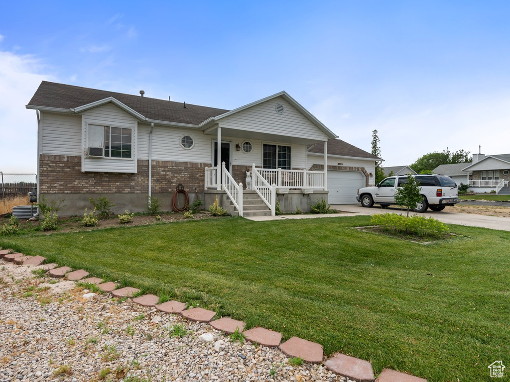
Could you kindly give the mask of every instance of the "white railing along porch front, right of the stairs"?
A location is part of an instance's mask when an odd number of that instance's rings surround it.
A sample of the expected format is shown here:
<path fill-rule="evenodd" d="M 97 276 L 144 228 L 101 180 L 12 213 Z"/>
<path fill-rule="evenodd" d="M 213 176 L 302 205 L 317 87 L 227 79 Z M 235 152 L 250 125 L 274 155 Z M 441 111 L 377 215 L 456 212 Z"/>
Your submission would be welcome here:
<path fill-rule="evenodd" d="M 324 189 L 324 171 L 257 169 L 260 175 L 276 187 Z"/>

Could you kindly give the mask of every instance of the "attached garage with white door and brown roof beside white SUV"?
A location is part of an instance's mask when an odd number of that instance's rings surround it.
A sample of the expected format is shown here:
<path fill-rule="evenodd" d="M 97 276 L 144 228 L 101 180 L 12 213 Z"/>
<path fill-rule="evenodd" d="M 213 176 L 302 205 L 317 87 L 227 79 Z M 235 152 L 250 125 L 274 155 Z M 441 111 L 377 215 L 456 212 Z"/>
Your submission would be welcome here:
<path fill-rule="evenodd" d="M 324 145 L 308 148 L 307 168 L 324 169 Z M 374 185 L 375 162 L 382 159 L 339 139 L 327 142 L 327 187 L 329 204 L 354 204 L 358 188 Z"/>

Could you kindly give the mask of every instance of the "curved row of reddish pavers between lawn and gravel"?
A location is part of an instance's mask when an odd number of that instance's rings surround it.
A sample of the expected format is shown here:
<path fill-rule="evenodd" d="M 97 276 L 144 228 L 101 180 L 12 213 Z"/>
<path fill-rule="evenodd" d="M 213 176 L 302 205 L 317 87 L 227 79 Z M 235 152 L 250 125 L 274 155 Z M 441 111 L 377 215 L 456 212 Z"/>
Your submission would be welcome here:
<path fill-rule="evenodd" d="M 38 262 L 37 266 L 46 270 L 47 275 L 50 277 L 62 278 L 67 275 L 68 280 L 79 281 L 89 275 L 89 273 L 83 269 L 72 271 L 72 269 L 67 266 L 58 267 L 55 263 L 41 265 L 41 263 L 46 259 L 41 256 L 36 257 L 36 262 Z M 11 253 L 11 250 L 0 249 L 0 259 L 2 258 L 10 262 L 15 262 L 16 260 L 23 258 L 22 261 L 19 261 L 18 265 L 24 265 L 25 262 L 28 262 L 27 265 L 35 265 L 30 264 L 30 260 L 35 259 L 35 257 L 24 256 L 22 253 Z M 112 281 L 102 283 L 103 280 L 96 277 L 83 279 L 81 282 L 95 284 L 99 289 L 105 292 L 110 292 L 116 297 L 132 297 L 134 294 L 140 292 L 139 289 L 132 287 L 116 289 L 116 283 Z M 305 362 L 321 363 L 323 360 L 322 345 L 318 343 L 307 341 L 298 337 L 292 337 L 283 344 L 280 344 L 282 340 L 281 333 L 261 327 L 243 331 L 246 324 L 242 321 L 237 321 L 230 317 L 223 317 L 211 322 L 216 315 L 216 312 L 203 308 L 185 310 L 186 304 L 178 301 L 167 301 L 163 304 L 156 305 L 158 303 L 158 299 L 159 297 L 156 295 L 146 294 L 134 298 L 133 301 L 134 303 L 142 306 L 156 306 L 159 311 L 164 313 L 181 314 L 190 321 L 207 322 L 214 329 L 225 333 L 234 333 L 236 331 L 243 332 L 246 340 L 250 342 L 257 342 L 260 345 L 269 347 L 279 346 L 282 352 L 287 354 L 287 356 L 299 357 Z M 346 356 L 342 353 L 333 354 L 324 362 L 324 366 L 338 375 L 354 379 L 358 382 L 427 382 L 424 378 L 419 378 L 411 374 L 405 374 L 391 369 L 383 370 L 378 378 L 375 379 L 372 364 L 370 362 Z"/>

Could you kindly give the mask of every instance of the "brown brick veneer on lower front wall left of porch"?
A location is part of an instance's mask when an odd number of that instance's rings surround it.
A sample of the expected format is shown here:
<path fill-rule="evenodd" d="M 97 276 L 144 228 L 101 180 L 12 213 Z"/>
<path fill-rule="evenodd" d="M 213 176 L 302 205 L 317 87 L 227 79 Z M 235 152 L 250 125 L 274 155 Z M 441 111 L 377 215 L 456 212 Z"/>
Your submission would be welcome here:
<path fill-rule="evenodd" d="M 152 193 L 173 193 L 182 183 L 189 192 L 203 190 L 204 168 L 210 163 L 152 161 Z M 138 160 L 137 174 L 82 172 L 82 158 L 41 155 L 39 192 L 48 193 L 148 193 L 148 160 Z"/>

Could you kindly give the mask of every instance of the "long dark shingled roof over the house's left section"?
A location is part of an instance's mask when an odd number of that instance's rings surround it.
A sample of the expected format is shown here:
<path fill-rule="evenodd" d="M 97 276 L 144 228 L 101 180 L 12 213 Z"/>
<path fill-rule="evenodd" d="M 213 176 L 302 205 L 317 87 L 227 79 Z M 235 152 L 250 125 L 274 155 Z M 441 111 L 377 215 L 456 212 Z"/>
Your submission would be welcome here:
<path fill-rule="evenodd" d="M 113 97 L 151 120 L 198 125 L 228 110 L 42 81 L 28 106 L 71 109 Z"/>

